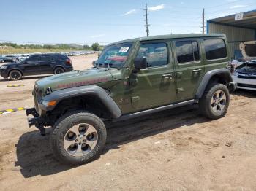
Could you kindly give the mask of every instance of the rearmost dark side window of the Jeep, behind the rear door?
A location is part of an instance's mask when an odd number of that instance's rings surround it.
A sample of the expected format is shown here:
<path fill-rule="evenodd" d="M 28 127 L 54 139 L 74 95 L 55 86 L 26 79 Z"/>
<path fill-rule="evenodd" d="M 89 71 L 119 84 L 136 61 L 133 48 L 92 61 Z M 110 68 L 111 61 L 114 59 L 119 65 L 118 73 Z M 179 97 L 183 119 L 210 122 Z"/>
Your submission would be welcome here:
<path fill-rule="evenodd" d="M 227 48 L 223 39 L 205 39 L 206 59 L 215 60 L 227 57 Z"/>

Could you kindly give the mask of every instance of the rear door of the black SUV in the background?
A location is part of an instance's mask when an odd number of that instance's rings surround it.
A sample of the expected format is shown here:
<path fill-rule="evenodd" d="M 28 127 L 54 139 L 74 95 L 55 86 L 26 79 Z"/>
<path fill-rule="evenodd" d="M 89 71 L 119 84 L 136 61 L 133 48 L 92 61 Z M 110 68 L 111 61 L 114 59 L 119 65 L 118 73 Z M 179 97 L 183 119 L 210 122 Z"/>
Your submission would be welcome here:
<path fill-rule="evenodd" d="M 40 59 L 41 74 L 53 73 L 53 67 L 56 63 L 53 55 L 42 55 Z"/>

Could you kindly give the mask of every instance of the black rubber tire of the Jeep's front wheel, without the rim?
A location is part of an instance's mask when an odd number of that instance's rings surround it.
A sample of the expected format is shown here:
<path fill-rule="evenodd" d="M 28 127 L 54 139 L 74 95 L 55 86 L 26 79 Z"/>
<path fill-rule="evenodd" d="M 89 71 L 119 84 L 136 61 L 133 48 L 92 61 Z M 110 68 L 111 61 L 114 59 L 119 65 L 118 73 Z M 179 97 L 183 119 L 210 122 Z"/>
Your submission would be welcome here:
<path fill-rule="evenodd" d="M 97 130 L 97 144 L 94 149 L 83 156 L 75 157 L 69 154 L 64 148 L 64 136 L 67 135 L 69 129 L 80 123 L 92 125 Z M 57 120 L 53 126 L 53 133 L 50 136 L 50 144 L 53 154 L 61 163 L 68 165 L 82 165 L 89 163 L 91 160 L 97 159 L 100 152 L 105 147 L 107 139 L 107 131 L 102 120 L 94 114 L 84 111 L 76 111 L 65 114 Z"/>

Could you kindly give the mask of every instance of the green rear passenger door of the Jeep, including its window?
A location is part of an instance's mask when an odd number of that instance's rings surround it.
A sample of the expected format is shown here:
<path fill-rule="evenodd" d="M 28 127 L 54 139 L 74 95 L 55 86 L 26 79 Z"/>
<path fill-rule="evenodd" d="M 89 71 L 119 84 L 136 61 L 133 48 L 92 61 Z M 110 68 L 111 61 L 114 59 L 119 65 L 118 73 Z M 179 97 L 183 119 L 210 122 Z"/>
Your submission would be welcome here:
<path fill-rule="evenodd" d="M 192 99 L 205 72 L 200 39 L 175 39 L 172 43 L 175 47 L 178 100 Z"/>

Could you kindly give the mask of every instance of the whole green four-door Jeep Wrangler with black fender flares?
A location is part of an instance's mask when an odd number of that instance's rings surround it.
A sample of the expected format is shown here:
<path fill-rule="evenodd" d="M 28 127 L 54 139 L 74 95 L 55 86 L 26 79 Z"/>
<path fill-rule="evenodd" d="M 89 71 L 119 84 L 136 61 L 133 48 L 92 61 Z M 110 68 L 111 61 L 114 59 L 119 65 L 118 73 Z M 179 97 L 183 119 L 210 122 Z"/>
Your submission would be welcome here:
<path fill-rule="evenodd" d="M 235 88 L 223 34 L 150 36 L 108 44 L 94 68 L 39 79 L 29 126 L 42 135 L 52 126 L 50 144 L 61 162 L 88 163 L 107 138 L 104 122 L 129 120 L 178 106 L 198 104 L 218 119 Z"/>

